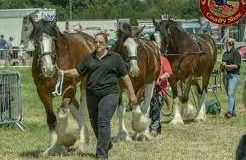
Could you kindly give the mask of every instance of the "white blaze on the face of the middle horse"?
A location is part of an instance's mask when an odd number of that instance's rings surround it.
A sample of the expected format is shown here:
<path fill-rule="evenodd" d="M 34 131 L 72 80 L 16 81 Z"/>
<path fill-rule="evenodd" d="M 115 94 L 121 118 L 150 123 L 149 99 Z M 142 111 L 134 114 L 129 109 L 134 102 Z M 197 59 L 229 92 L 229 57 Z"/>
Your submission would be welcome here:
<path fill-rule="evenodd" d="M 133 38 L 127 38 L 124 46 L 126 47 L 129 57 L 130 57 L 130 71 L 129 74 L 132 77 L 136 77 L 139 74 L 138 62 L 137 62 L 137 49 L 138 44 Z"/>

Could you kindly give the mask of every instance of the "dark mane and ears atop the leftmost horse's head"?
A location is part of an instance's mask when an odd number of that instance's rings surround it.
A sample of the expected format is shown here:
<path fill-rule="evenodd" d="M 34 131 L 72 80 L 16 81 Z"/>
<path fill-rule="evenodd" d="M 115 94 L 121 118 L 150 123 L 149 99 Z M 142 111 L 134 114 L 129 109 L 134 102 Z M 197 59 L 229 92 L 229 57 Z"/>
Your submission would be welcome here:
<path fill-rule="evenodd" d="M 36 40 L 43 32 L 53 37 L 64 38 L 56 24 L 41 19 L 34 25 L 34 29 L 30 34 L 29 39 Z"/>

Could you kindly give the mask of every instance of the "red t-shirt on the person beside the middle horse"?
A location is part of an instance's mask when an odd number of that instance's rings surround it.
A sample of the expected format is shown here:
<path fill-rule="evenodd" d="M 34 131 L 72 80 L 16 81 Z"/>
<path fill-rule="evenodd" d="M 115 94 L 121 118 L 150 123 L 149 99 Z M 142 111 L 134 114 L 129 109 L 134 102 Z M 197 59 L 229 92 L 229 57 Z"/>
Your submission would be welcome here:
<path fill-rule="evenodd" d="M 160 61 L 161 61 L 161 67 L 160 67 L 159 77 L 166 72 L 171 74 L 172 73 L 172 67 L 171 67 L 171 64 L 169 63 L 169 61 L 162 55 L 160 56 Z M 155 87 L 155 92 L 158 92 L 159 94 L 165 95 L 166 87 L 167 87 L 167 80 L 163 80 L 160 82 L 160 85 L 157 85 Z"/>

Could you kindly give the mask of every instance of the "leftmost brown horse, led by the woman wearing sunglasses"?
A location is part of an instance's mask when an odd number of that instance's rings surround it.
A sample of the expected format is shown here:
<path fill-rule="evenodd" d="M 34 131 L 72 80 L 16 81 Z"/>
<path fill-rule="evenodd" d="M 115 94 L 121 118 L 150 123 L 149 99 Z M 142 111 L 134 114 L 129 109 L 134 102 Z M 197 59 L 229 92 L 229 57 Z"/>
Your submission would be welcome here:
<path fill-rule="evenodd" d="M 72 69 L 78 65 L 89 53 L 94 50 L 93 37 L 85 33 L 64 33 L 62 34 L 55 22 L 45 20 L 33 21 L 33 31 L 30 40 L 34 42 L 35 51 L 32 63 L 32 76 L 41 99 L 49 126 L 49 147 L 44 152 L 45 155 L 63 153 L 63 144 L 59 137 L 62 130 L 56 126 L 57 117 L 53 111 L 52 92 L 55 90 L 58 74 L 57 69 Z M 65 78 L 62 87 L 63 99 L 58 109 L 58 115 L 66 115 L 69 109 L 79 126 L 78 141 L 74 144 L 81 147 L 88 143 L 87 128 L 84 124 L 84 112 L 86 105 L 84 96 L 84 86 L 80 85 L 80 104 L 75 99 L 76 85 L 84 78 Z M 58 123 L 60 124 L 60 123 Z M 62 131 L 64 132 L 64 131 Z M 64 144 L 65 145 L 65 144 Z M 71 144 L 70 144 L 71 145 Z"/>

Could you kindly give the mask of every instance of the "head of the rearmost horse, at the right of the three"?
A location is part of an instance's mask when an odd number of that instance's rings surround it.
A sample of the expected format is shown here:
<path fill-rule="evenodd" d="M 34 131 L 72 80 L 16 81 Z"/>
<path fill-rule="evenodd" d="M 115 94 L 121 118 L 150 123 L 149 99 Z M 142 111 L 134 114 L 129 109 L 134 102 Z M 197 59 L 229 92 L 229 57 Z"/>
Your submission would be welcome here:
<path fill-rule="evenodd" d="M 176 26 L 176 22 L 170 20 L 169 17 L 167 20 L 161 20 L 160 22 L 153 19 L 153 23 L 155 25 L 154 37 L 157 46 L 162 52 L 166 52 L 172 39 L 172 31 L 170 28 L 171 26 Z"/>

